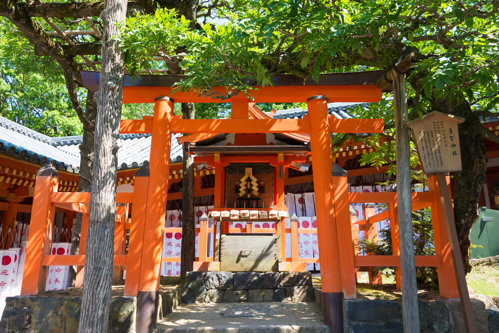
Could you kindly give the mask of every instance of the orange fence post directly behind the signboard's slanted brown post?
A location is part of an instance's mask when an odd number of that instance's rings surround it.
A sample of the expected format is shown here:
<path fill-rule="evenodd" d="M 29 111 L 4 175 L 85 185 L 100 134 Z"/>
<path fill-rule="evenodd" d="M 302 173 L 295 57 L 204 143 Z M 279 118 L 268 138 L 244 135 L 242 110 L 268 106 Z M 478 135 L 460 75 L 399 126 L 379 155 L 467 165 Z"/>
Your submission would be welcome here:
<path fill-rule="evenodd" d="M 433 239 L 435 242 L 435 254 L 442 258 L 442 266 L 437 268 L 440 296 L 445 298 L 458 298 L 458 282 L 454 275 L 454 265 L 451 257 L 450 239 L 447 237 L 444 209 L 441 206 L 441 190 L 435 175 L 428 175 L 428 187 L 435 198 L 431 204 Z"/>

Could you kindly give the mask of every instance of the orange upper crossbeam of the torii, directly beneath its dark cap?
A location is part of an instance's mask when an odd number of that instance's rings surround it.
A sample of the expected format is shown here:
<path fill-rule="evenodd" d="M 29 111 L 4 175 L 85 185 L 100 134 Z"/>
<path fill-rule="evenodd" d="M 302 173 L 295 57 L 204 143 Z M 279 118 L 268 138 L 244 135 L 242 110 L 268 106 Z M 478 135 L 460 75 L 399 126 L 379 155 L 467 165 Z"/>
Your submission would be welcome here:
<path fill-rule="evenodd" d="M 310 86 L 266 86 L 249 90 L 252 102 L 256 103 L 300 103 L 314 95 L 324 95 L 328 102 L 379 102 L 381 90 L 376 85 L 310 85 Z M 153 103 L 157 96 L 169 96 L 176 103 L 227 103 L 221 100 L 200 96 L 198 92 L 172 87 L 123 87 L 123 103 Z M 215 87 L 215 91 L 227 93 L 225 87 Z M 241 94 L 244 97 L 244 94 Z"/>

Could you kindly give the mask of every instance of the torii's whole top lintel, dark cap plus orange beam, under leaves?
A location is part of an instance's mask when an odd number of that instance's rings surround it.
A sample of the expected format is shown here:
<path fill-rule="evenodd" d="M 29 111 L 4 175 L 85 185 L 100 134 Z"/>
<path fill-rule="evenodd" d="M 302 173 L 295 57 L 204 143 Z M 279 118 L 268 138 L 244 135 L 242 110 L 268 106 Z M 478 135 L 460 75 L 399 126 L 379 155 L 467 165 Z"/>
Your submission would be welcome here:
<path fill-rule="evenodd" d="M 382 91 L 375 82 L 383 73 L 380 70 L 329 73 L 319 75 L 317 81 L 294 75 L 276 75 L 273 77 L 273 86 L 261 87 L 256 86 L 256 82 L 249 82 L 255 88 L 249 92 L 254 102 L 261 103 L 300 103 L 315 95 L 325 96 L 328 102 L 378 102 Z M 81 71 L 81 77 L 87 89 L 97 91 L 99 72 Z M 169 96 L 176 103 L 229 102 L 200 96 L 196 91 L 173 92 L 174 86 L 182 78 L 182 75 L 141 75 L 132 80 L 125 75 L 123 103 L 152 103 L 158 96 Z M 225 87 L 215 87 L 214 90 L 226 93 Z M 242 93 L 241 95 L 244 96 Z"/>

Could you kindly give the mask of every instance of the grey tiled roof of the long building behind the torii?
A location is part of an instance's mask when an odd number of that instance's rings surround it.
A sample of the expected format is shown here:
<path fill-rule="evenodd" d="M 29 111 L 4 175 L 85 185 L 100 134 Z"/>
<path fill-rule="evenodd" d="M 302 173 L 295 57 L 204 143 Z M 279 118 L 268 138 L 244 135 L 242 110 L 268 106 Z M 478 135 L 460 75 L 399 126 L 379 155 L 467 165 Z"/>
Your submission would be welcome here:
<path fill-rule="evenodd" d="M 329 103 L 327 106 L 329 114 L 336 118 L 352 118 L 346 109 L 355 104 Z M 304 114 L 307 114 L 306 108 L 294 108 L 276 111 L 273 118 L 301 118 Z M 171 163 L 182 161 L 182 145 L 177 140 L 180 136 L 180 133 L 172 135 Z M 138 168 L 149 161 L 151 134 L 120 134 L 120 138 L 123 146 L 118 150 L 118 170 Z M 57 168 L 78 173 L 81 140 L 81 135 L 52 138 L 0 116 L 0 153 L 18 159 L 40 164 L 54 161 Z"/>

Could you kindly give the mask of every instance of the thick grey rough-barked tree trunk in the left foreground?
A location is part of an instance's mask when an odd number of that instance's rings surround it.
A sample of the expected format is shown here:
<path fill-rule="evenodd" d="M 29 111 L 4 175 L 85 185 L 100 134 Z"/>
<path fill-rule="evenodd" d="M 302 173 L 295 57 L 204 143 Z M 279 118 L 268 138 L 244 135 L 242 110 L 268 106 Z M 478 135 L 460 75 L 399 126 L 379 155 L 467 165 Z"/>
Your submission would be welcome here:
<path fill-rule="evenodd" d="M 121 146 L 119 125 L 123 97 L 124 54 L 117 22 L 126 19 L 126 0 L 106 0 L 102 64 L 90 191 L 90 216 L 78 332 L 107 332 L 114 252 L 117 151 Z"/>

